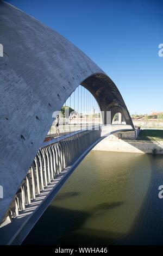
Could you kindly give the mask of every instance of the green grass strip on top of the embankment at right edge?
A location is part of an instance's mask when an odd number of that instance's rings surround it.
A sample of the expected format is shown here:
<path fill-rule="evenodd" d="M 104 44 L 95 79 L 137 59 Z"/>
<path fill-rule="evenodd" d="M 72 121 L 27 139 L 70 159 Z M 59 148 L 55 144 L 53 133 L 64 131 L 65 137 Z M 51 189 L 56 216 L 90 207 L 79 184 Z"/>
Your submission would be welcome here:
<path fill-rule="evenodd" d="M 142 130 L 138 139 L 143 141 L 163 141 L 163 130 Z"/>

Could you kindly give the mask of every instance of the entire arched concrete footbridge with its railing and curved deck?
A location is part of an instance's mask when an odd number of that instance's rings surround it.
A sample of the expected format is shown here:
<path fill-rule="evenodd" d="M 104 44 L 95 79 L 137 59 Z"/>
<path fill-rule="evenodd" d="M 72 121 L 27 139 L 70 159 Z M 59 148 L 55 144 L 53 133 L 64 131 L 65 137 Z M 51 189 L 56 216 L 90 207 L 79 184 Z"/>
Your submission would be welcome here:
<path fill-rule="evenodd" d="M 77 47 L 5 2 L 0 17 L 0 241 L 17 244 L 86 154 L 104 137 L 134 126 L 114 82 Z M 78 121 L 67 125 L 60 117 L 55 137 L 52 116 L 62 106 Z M 117 113 L 126 125 L 111 125 Z"/>

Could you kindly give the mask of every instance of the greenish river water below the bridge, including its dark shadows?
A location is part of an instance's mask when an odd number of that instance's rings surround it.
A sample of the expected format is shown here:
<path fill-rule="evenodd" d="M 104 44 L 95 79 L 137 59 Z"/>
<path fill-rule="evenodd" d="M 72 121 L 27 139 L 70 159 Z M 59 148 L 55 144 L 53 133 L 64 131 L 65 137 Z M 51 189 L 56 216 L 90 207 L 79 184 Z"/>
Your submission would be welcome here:
<path fill-rule="evenodd" d="M 163 156 L 91 151 L 23 244 L 163 244 Z"/>

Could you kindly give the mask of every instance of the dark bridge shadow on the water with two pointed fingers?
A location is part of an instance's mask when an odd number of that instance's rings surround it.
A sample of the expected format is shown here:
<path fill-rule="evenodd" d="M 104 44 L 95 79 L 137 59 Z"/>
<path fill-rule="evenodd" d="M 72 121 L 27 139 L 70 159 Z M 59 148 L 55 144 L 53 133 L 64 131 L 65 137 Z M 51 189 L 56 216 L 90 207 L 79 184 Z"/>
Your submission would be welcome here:
<path fill-rule="evenodd" d="M 56 206 L 49 206 L 40 220 L 36 223 L 22 245 L 84 245 L 84 244 L 108 244 L 113 243 L 113 237 L 121 237 L 122 234 L 84 228 L 83 225 L 92 214 L 99 210 L 111 210 L 120 206 L 123 202 L 111 204 L 99 204 L 91 211 L 77 211 Z M 53 218 L 52 218 L 53 215 Z M 52 221 L 53 220 L 53 221 Z"/>

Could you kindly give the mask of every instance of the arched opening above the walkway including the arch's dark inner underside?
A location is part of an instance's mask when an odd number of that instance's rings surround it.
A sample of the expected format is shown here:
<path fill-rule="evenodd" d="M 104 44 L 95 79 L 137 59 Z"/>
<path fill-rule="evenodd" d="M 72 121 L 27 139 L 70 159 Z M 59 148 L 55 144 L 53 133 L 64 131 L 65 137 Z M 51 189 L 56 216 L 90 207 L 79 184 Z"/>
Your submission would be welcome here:
<path fill-rule="evenodd" d="M 115 123 L 116 113 L 122 120 Z M 59 114 L 59 127 L 56 126 Z M 133 126 L 128 109 L 114 82 L 104 74 L 93 74 L 79 84 L 62 104 L 53 112 L 53 123 L 45 141 L 55 136 L 67 135 L 87 129 L 93 125 L 128 124 Z M 134 126 L 133 126 L 134 127 Z"/>

